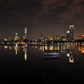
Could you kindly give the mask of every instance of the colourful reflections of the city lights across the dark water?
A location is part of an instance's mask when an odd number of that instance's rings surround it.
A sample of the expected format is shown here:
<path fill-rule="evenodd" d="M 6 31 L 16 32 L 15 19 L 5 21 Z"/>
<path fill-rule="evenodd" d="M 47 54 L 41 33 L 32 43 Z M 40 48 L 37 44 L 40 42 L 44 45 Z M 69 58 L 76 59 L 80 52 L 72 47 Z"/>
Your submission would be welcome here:
<path fill-rule="evenodd" d="M 84 53 L 84 45 L 77 45 L 76 43 L 61 43 L 55 45 L 43 45 L 43 46 L 32 46 L 42 51 L 44 58 L 59 58 L 61 53 L 64 53 L 68 58 L 69 63 L 74 63 L 74 48 L 77 48 L 79 52 Z M 24 60 L 27 62 L 28 45 L 24 43 L 23 46 L 19 46 L 17 43 L 15 46 L 4 46 L 4 49 L 14 50 L 15 54 L 18 54 L 20 49 L 23 49 Z"/>

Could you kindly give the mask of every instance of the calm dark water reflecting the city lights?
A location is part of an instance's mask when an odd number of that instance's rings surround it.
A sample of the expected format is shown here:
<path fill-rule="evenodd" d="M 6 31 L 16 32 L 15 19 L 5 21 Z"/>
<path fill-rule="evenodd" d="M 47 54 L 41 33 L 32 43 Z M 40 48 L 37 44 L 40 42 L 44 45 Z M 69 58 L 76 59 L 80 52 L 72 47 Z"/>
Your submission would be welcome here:
<path fill-rule="evenodd" d="M 84 46 L 0 46 L 0 82 L 84 80 Z"/>

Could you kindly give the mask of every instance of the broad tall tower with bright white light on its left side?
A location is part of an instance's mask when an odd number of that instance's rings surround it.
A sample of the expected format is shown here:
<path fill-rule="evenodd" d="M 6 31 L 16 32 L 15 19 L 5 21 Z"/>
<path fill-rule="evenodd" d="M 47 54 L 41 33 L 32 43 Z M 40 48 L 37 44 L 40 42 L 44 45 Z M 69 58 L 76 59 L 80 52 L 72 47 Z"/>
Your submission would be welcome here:
<path fill-rule="evenodd" d="M 69 25 L 69 29 L 67 31 L 67 41 L 74 40 L 74 25 Z"/>

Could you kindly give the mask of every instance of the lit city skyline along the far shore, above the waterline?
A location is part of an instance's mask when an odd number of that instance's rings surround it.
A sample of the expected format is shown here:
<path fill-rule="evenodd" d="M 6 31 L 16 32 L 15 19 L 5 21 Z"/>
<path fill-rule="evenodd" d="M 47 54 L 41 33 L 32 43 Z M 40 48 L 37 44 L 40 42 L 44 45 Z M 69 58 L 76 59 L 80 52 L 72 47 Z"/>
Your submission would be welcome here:
<path fill-rule="evenodd" d="M 50 34 L 50 33 L 49 34 L 48 33 L 41 33 L 41 34 L 38 35 L 37 39 L 32 39 L 32 38 L 28 37 L 28 35 L 29 35 L 28 34 L 28 28 L 25 26 L 23 32 L 20 32 L 20 33 L 12 32 L 11 34 L 6 35 L 6 37 L 4 37 L 2 35 L 1 39 L 2 38 L 3 39 L 14 38 L 15 36 L 19 36 L 20 39 L 27 38 L 29 40 L 38 40 L 40 38 L 40 36 L 42 35 L 42 36 L 44 36 L 47 39 L 49 39 L 51 37 L 54 39 L 55 37 L 53 37 L 53 36 L 59 36 L 60 40 L 61 40 L 62 37 L 63 38 L 68 38 L 68 39 L 77 40 L 77 39 L 79 39 L 80 36 L 81 37 L 84 36 L 84 34 L 81 34 L 81 35 L 77 35 L 77 38 L 75 38 L 75 34 L 76 34 L 75 33 L 75 27 L 74 27 L 74 25 L 71 24 L 71 25 L 68 26 L 66 32 L 65 33 L 61 33 L 60 35 L 59 34 L 53 34 L 53 33 L 52 34 Z M 15 39 L 17 39 L 17 37 Z"/>

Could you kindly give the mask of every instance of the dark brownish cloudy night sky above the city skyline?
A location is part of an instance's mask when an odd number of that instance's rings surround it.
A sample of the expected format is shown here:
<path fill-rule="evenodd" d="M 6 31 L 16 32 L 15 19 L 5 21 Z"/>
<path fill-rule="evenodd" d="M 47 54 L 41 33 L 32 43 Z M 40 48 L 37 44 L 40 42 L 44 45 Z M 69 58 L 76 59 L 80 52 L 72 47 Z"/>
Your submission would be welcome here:
<path fill-rule="evenodd" d="M 0 38 L 24 34 L 38 39 L 40 34 L 66 34 L 75 25 L 75 38 L 84 34 L 84 0 L 0 0 Z"/>

